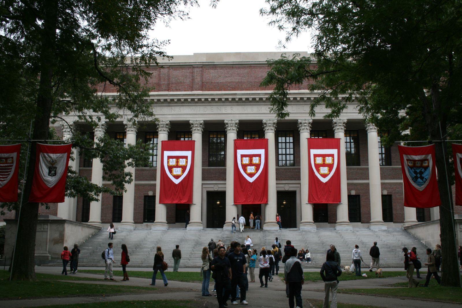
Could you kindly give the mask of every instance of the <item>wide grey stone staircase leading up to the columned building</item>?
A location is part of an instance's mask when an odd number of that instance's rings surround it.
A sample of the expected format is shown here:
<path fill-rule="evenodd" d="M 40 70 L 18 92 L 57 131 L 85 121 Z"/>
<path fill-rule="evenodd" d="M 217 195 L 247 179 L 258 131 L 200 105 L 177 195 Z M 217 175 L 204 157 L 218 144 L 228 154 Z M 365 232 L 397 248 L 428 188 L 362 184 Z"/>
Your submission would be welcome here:
<path fill-rule="evenodd" d="M 103 228 L 103 230 L 106 230 Z M 107 248 L 108 232 L 99 231 L 84 243 L 81 243 L 79 256 L 79 266 L 103 267 L 104 261 L 101 253 Z M 340 253 L 341 265 L 351 265 L 351 255 L 355 244 L 359 245 L 363 259 L 370 263 L 369 249 L 374 241 L 380 249 L 380 267 L 403 267 L 403 256 L 401 249 L 406 246 L 411 249 L 417 248 L 417 252 L 423 261 L 425 249 L 427 248 L 417 238 L 407 231 L 399 228 L 389 228 L 385 231 L 371 231 L 370 229 L 360 228 L 353 231 L 336 231 L 333 228 L 319 228 L 317 231 L 300 231 L 298 229 L 284 229 L 282 231 L 261 231 L 245 230 L 243 233 L 231 234 L 230 231 L 223 229 L 204 229 L 197 231 L 187 231 L 185 229 L 170 229 L 167 231 L 153 231 L 148 229 L 117 230 L 114 239 L 114 255 L 116 264 L 120 264 L 121 245 L 125 243 L 130 255 L 130 267 L 152 267 L 156 247 L 161 246 L 165 255 L 165 261 L 169 266 L 173 266 L 171 251 L 175 245 L 180 245 L 182 259 L 180 267 L 200 267 L 201 251 L 207 246 L 211 238 L 218 242 L 220 239 L 227 245 L 233 240 L 244 243 L 244 239 L 250 235 L 253 248 L 260 252 L 261 247 L 267 249 L 274 243 L 274 238 L 279 237 L 281 243 L 285 244 L 287 239 L 292 241 L 292 245 L 298 250 L 309 249 L 311 253 L 311 264 L 304 263 L 304 267 L 318 268 L 326 258 L 326 251 L 330 244 L 334 244 Z M 72 243 L 68 243 L 72 247 Z M 424 260 L 425 259 L 425 260 Z M 61 260 L 53 261 L 49 265 L 62 266 Z M 363 266 L 365 266 L 363 264 Z"/>

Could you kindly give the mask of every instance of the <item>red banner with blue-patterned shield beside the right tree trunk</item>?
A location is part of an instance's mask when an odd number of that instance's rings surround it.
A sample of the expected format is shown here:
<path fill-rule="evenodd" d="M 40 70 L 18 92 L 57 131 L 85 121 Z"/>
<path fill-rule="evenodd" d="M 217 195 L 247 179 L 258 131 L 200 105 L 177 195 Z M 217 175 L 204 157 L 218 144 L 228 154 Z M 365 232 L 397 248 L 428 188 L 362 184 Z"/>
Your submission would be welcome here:
<path fill-rule="evenodd" d="M 438 207 L 435 145 L 423 147 L 398 146 L 403 173 L 405 207 Z"/>

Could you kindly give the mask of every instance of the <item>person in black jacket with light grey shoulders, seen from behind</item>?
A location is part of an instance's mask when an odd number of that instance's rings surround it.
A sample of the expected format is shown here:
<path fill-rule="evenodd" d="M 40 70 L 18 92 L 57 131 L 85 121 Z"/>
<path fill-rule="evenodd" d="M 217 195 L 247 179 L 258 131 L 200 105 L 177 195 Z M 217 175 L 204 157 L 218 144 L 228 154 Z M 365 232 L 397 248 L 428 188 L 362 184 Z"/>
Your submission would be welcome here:
<path fill-rule="evenodd" d="M 291 257 L 284 265 L 284 281 L 289 287 L 289 308 L 295 307 L 295 302 L 298 308 L 303 307 L 302 303 L 302 284 L 305 282 L 303 275 L 302 263 L 295 258 L 297 249 L 291 250 Z M 295 302 L 294 302 L 295 297 Z"/>

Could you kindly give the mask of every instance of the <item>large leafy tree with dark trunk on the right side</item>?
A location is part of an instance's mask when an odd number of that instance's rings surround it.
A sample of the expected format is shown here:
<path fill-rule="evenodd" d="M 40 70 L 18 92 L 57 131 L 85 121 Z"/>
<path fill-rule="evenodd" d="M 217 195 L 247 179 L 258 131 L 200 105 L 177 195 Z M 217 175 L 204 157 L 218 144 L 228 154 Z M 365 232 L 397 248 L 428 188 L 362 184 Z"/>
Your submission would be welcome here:
<path fill-rule="evenodd" d="M 310 57 L 269 60 L 262 85 L 274 85 L 272 112 L 285 118 L 294 84 L 310 79 L 319 91 L 311 103 L 337 118 L 355 102 L 366 121 L 389 132 L 389 144 L 410 128 L 414 140 L 436 141 L 444 275 L 442 284 L 461 286 L 457 270 L 452 172 L 446 139 L 461 139 L 461 1 L 267 0 L 261 14 L 286 31 L 286 42 L 313 33 Z M 284 45 L 284 43 L 282 43 Z M 342 96 L 339 99 L 339 96 Z M 424 139 L 420 139 L 424 138 Z M 447 167 L 447 168 L 446 168 Z"/>

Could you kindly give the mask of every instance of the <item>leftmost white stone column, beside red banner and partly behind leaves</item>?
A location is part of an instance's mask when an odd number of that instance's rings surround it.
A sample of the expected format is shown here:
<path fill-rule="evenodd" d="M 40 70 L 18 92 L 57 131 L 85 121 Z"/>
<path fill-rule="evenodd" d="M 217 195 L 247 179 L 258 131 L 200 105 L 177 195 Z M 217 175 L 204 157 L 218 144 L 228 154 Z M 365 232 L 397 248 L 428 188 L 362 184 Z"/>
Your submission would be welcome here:
<path fill-rule="evenodd" d="M 61 123 L 61 125 L 62 140 L 72 140 L 75 125 L 73 123 L 67 124 L 64 121 Z M 69 167 L 71 167 L 72 170 L 79 172 L 79 148 L 72 149 L 71 158 L 73 158 L 73 160 L 69 160 Z M 58 217 L 75 221 L 76 212 L 77 198 L 66 197 L 64 202 L 58 203 Z"/>

